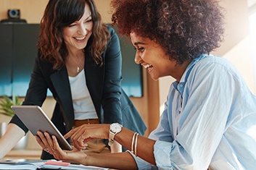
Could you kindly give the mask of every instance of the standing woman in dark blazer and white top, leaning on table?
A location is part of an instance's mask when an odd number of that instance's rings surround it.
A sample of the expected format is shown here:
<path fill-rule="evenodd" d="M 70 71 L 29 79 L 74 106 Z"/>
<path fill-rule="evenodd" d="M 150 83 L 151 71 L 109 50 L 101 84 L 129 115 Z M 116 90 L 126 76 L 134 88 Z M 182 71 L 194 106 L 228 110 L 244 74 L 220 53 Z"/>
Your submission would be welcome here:
<path fill-rule="evenodd" d="M 102 22 L 94 1 L 49 0 L 40 28 L 38 57 L 22 104 L 42 106 L 50 90 L 56 101 L 51 121 L 63 135 L 81 124 L 113 122 L 144 135 L 144 121 L 120 86 L 122 62 L 117 34 Z M 0 158 L 26 132 L 25 125 L 14 116 L 1 137 Z M 107 143 L 96 139 L 84 151 L 122 151 L 118 143 L 111 147 Z M 51 148 L 42 148 L 42 159 L 54 158 L 48 153 Z"/>

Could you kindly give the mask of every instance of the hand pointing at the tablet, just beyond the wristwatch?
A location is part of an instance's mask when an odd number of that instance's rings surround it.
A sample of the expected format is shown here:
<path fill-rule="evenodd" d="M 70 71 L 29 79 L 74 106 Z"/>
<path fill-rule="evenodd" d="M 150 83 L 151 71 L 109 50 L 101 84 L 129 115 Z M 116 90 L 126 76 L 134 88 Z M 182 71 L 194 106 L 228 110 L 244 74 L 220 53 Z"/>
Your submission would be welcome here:
<path fill-rule="evenodd" d="M 83 124 L 80 127 L 70 130 L 64 136 L 71 138 L 73 145 L 78 150 L 86 148 L 86 143 L 94 139 L 108 139 L 110 124 Z"/>

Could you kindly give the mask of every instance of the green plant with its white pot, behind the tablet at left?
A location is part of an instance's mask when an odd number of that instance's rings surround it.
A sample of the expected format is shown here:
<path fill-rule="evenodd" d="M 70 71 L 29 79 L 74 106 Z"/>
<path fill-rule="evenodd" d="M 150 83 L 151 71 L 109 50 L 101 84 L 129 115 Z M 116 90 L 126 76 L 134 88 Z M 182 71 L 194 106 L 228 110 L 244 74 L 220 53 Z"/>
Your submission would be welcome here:
<path fill-rule="evenodd" d="M 17 96 L 12 95 L 12 98 L 9 98 L 6 95 L 1 96 L 0 99 L 0 114 L 4 114 L 6 116 L 15 116 L 15 112 L 11 109 L 11 106 L 21 105 L 22 101 Z M 7 122 L 1 122 L 0 126 L 0 137 L 4 135 L 4 132 L 7 129 Z M 15 145 L 14 149 L 25 149 L 28 143 L 28 135 L 22 137 L 22 139 Z"/>

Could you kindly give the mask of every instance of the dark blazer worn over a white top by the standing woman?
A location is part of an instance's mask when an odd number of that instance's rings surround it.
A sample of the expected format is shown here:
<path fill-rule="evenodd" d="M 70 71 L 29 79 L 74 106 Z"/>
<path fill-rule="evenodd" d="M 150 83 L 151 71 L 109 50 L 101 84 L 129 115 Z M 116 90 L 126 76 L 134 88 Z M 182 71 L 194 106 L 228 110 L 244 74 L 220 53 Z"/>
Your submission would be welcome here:
<path fill-rule="evenodd" d="M 119 39 L 112 27 L 108 27 L 111 40 L 107 43 L 107 50 L 102 54 L 103 66 L 94 64 L 88 52 L 88 46 L 93 41 L 93 35 L 89 38 L 85 50 L 85 75 L 86 85 L 91 95 L 96 114 L 101 123 L 118 122 L 123 127 L 144 135 L 146 126 L 139 112 L 133 106 L 130 98 L 120 87 L 121 76 L 121 52 Z M 67 68 L 54 70 L 52 64 L 40 59 L 39 55 L 33 67 L 30 84 L 23 105 L 42 106 L 49 89 L 57 101 L 51 121 L 65 135 L 73 127 L 74 109 L 70 91 L 70 82 Z M 11 120 L 25 132 L 28 129 L 17 116 Z M 42 158 L 49 158 L 42 156 Z"/>

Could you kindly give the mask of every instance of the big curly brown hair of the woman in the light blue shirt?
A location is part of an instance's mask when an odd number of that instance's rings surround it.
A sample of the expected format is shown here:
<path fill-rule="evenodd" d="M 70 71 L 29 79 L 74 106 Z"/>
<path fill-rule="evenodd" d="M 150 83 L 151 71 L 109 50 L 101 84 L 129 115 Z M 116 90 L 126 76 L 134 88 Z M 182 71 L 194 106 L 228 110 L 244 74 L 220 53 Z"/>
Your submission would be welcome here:
<path fill-rule="evenodd" d="M 223 13 L 215 0 L 112 0 L 112 24 L 157 41 L 182 64 L 209 54 L 223 40 Z"/>

